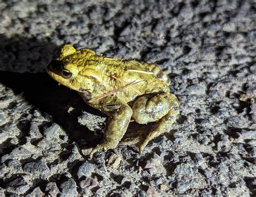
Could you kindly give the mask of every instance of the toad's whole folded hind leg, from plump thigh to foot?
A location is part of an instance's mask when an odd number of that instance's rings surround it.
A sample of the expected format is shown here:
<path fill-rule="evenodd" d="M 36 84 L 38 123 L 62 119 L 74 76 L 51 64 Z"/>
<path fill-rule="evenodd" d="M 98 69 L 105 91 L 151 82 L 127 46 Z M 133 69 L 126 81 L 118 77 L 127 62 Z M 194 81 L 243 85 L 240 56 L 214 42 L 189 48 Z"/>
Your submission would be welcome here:
<path fill-rule="evenodd" d="M 146 138 L 139 140 L 139 152 L 142 153 L 149 141 L 170 131 L 179 114 L 179 102 L 176 96 L 170 93 L 161 93 L 150 99 L 149 96 L 143 96 L 134 101 L 132 110 L 132 117 L 139 124 L 159 120 L 156 128 Z"/>

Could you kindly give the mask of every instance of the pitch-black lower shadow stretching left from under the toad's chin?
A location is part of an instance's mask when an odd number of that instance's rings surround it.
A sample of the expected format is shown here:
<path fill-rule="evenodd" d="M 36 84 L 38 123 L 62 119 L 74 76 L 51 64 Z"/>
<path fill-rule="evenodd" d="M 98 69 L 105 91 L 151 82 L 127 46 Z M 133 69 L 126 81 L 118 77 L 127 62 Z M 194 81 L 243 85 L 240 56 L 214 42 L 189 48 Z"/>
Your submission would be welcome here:
<path fill-rule="evenodd" d="M 87 106 L 82 98 L 72 90 L 58 85 L 46 73 L 13 73 L 0 71 L 0 82 L 14 90 L 30 104 L 37 107 L 42 114 L 50 114 L 55 123 L 68 134 L 69 139 L 84 139 L 92 146 L 99 141 L 98 135 L 78 123 L 78 117 L 84 111 L 104 116 L 94 108 Z M 73 110 L 69 111 L 72 107 Z"/>

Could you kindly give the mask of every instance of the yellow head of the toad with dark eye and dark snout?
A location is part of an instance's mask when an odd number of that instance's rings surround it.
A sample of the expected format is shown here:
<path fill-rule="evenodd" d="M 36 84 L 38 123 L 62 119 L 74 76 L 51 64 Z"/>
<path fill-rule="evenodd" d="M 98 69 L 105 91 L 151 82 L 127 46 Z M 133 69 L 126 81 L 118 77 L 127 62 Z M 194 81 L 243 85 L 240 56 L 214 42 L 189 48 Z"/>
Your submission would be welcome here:
<path fill-rule="evenodd" d="M 78 92 L 92 92 L 96 83 L 102 81 L 101 74 L 92 67 L 84 65 L 91 50 L 76 50 L 71 45 L 62 47 L 60 56 L 47 66 L 48 74 L 58 83 Z M 94 53 L 95 54 L 95 53 Z"/>

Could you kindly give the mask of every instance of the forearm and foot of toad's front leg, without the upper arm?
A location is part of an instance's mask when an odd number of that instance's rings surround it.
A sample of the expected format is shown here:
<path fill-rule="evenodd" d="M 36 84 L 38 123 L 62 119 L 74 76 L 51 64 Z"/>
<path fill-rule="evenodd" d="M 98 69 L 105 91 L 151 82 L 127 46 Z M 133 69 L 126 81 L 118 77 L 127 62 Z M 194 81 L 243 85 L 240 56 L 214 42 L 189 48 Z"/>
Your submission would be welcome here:
<path fill-rule="evenodd" d="M 103 142 L 92 149 L 90 157 L 99 150 L 115 148 L 127 130 L 132 116 L 132 109 L 126 103 L 116 99 L 114 104 L 120 105 L 120 107 L 117 110 L 108 111 L 110 117 L 106 124 Z"/>

